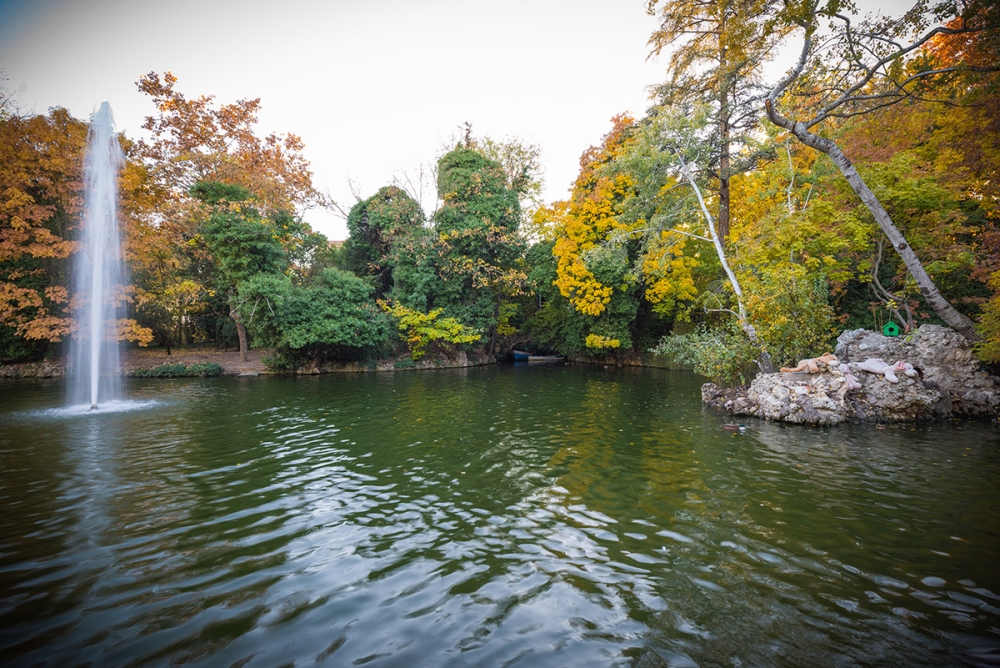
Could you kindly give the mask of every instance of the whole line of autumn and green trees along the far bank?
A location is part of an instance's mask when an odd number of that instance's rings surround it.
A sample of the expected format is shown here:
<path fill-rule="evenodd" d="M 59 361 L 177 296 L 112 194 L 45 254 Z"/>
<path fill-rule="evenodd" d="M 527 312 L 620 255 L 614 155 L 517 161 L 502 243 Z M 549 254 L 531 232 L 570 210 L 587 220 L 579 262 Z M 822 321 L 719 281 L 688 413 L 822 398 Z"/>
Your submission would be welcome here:
<path fill-rule="evenodd" d="M 147 74 L 149 137 L 122 137 L 120 336 L 267 347 L 278 368 L 655 351 L 741 382 L 891 319 L 947 324 L 1000 361 L 1000 12 L 852 9 L 651 0 L 669 78 L 583 153 L 565 201 L 539 201 L 537 147 L 467 131 L 436 161 L 430 215 L 388 184 L 345 212 L 342 247 L 304 221 L 331 203 L 298 137 L 258 136 L 259 100 Z M 72 332 L 87 128 L 0 99 L 0 357 L 21 360 Z"/>

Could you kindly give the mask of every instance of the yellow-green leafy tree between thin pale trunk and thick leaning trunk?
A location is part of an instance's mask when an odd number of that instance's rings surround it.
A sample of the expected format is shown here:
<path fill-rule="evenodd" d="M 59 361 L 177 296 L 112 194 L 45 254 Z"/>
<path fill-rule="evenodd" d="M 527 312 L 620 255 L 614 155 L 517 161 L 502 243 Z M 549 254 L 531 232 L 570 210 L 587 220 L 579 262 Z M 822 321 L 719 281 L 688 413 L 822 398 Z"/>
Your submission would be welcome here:
<path fill-rule="evenodd" d="M 848 324 L 846 316 L 837 322 L 834 301 L 846 284 L 867 278 L 872 226 L 831 196 L 828 163 L 787 137 L 770 141 L 772 157 L 733 179 L 738 206 L 727 252 L 775 365 L 794 366 L 832 350 L 837 325 Z"/>

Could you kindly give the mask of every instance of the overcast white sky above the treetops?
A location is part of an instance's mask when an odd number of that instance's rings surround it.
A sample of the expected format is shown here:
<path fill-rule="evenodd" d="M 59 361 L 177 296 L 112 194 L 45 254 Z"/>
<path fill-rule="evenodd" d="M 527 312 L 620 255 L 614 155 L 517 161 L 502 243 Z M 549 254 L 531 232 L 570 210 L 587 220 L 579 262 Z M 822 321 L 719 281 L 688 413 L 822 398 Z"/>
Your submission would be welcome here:
<path fill-rule="evenodd" d="M 902 0 L 896 0 L 898 4 Z M 878 3 L 886 5 L 887 3 Z M 188 97 L 260 97 L 261 134 L 306 144 L 338 202 L 414 173 L 457 136 L 542 149 L 547 200 L 623 111 L 665 78 L 647 61 L 645 0 L 0 0 L 0 68 L 21 107 L 86 119 L 103 101 L 130 137 L 152 103 L 135 86 L 173 72 Z M 306 219 L 333 239 L 346 225 Z"/>

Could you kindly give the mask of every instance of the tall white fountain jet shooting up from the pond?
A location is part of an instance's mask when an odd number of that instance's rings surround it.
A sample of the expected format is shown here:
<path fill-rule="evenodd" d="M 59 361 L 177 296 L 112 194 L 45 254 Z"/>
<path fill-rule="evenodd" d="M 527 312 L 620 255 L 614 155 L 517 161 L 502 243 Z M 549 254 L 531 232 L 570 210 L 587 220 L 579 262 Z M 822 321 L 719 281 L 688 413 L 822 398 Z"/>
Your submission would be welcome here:
<path fill-rule="evenodd" d="M 127 277 L 118 235 L 118 173 L 124 159 L 107 102 L 94 114 L 84 162 L 81 247 L 73 268 L 78 327 L 70 344 L 70 405 L 120 399 L 118 320 Z"/>

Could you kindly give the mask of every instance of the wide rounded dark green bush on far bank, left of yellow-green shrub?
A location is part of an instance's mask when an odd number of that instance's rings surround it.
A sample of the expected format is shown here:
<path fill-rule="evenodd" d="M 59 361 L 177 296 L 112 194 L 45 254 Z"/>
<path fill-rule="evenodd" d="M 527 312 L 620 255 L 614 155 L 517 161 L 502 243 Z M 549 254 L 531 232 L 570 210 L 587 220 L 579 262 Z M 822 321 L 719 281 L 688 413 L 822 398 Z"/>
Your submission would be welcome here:
<path fill-rule="evenodd" d="M 297 285 L 280 274 L 257 274 L 240 286 L 240 315 L 259 343 L 289 361 L 361 359 L 383 350 L 388 318 L 372 286 L 350 272 L 324 269 Z"/>

